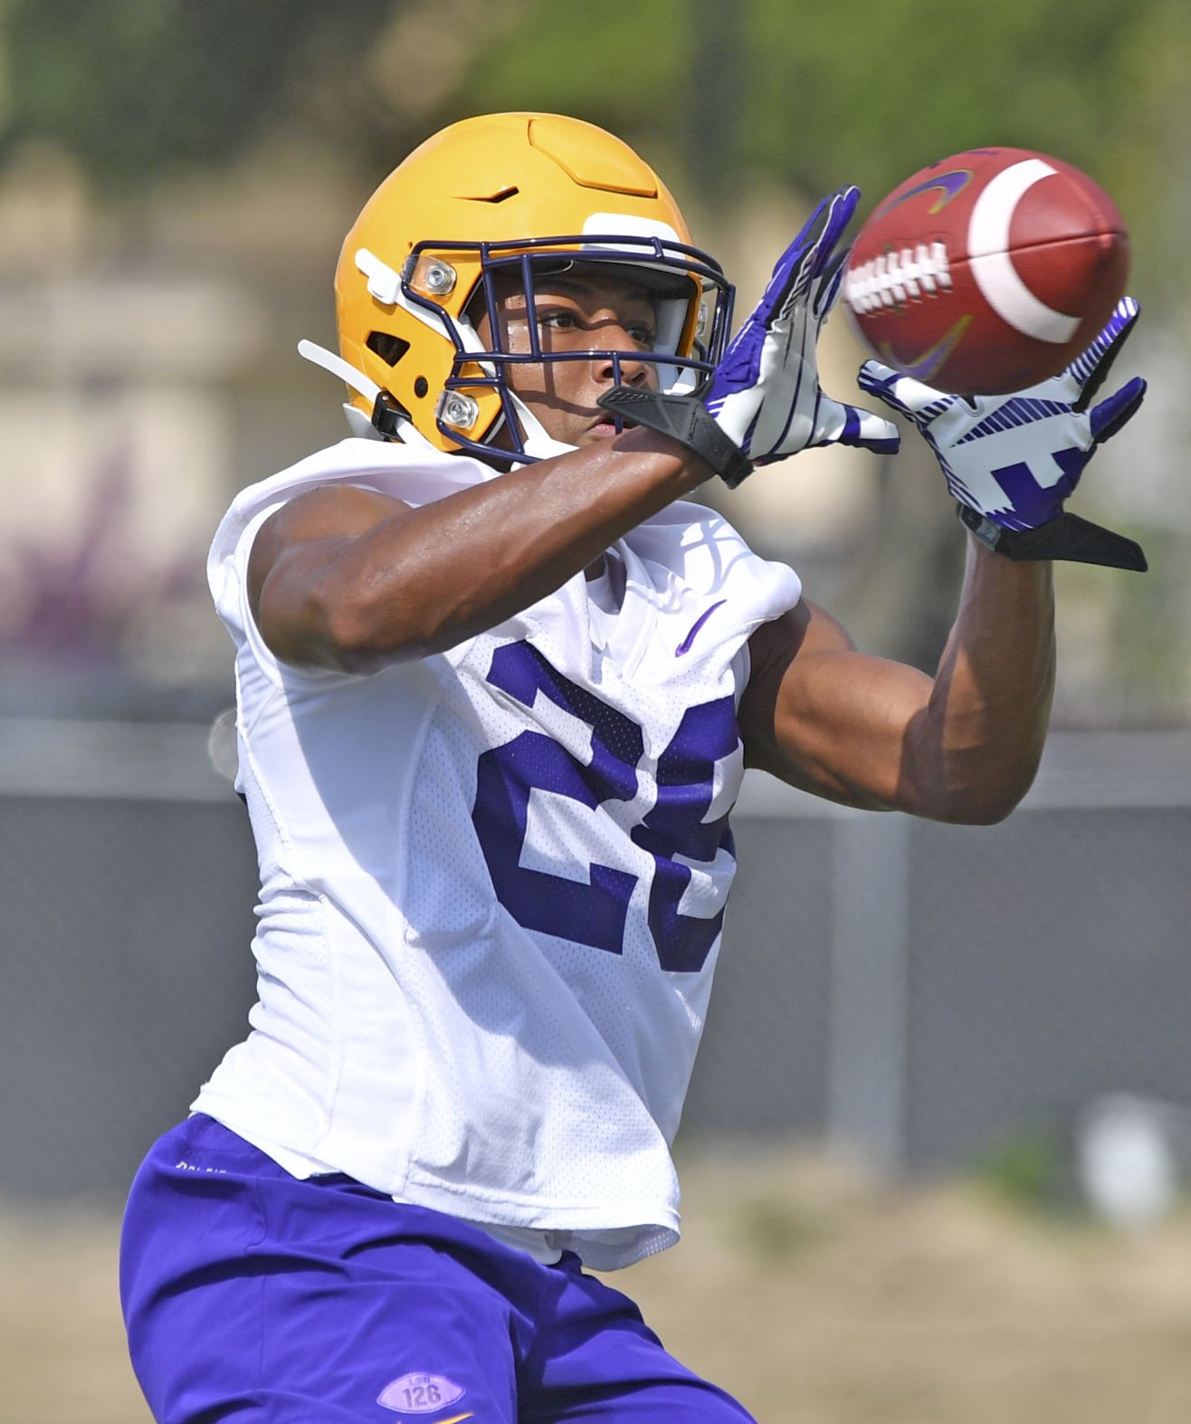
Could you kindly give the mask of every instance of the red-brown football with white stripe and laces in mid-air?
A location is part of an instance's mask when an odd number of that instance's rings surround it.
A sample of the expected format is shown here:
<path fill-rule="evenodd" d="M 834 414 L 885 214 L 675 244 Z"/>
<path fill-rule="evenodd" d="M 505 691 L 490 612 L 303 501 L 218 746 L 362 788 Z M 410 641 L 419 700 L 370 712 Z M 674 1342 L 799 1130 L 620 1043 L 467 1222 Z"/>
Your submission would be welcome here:
<path fill-rule="evenodd" d="M 844 310 L 886 366 L 960 396 L 1056 376 L 1108 320 L 1128 276 L 1113 199 L 1026 148 L 922 168 L 861 228 Z"/>

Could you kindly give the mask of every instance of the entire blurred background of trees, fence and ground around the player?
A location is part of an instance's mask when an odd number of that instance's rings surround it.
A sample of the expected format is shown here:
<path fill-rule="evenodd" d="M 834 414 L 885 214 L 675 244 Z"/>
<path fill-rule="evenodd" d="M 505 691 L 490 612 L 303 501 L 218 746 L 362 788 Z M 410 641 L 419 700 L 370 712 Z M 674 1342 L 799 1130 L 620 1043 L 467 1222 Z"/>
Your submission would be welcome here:
<path fill-rule="evenodd" d="M 687 1242 L 623 1283 L 771 1421 L 1188 1417 L 1190 81 L 1185 0 L 0 0 L 0 1421 L 147 1417 L 120 1203 L 253 994 L 206 545 L 347 433 L 295 347 L 334 345 L 364 198 L 509 108 L 633 144 L 739 312 L 822 192 L 864 215 L 963 148 L 1124 212 L 1150 393 L 1079 510 L 1151 571 L 1059 567 L 1056 731 L 1005 824 L 747 785 Z M 858 399 L 841 316 L 824 342 Z M 963 540 L 916 443 L 711 498 L 933 668 Z"/>

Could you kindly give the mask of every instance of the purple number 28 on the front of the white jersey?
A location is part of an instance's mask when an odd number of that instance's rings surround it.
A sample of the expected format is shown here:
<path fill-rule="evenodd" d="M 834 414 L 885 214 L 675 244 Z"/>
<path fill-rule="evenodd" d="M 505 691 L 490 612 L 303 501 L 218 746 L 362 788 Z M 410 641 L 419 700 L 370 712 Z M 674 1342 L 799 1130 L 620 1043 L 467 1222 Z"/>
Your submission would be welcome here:
<path fill-rule="evenodd" d="M 591 759 L 581 760 L 545 732 L 525 731 L 480 758 L 472 820 L 492 886 L 505 910 L 528 930 L 620 954 L 625 920 L 637 877 L 596 862 L 586 881 L 521 864 L 534 790 L 551 792 L 596 810 L 636 796 L 645 752 L 640 726 L 562 676 L 529 644 L 505 644 L 492 655 L 488 681 L 532 708 L 541 693 L 591 733 Z M 683 893 L 696 864 L 731 856 L 727 816 L 704 822 L 714 796 L 719 759 L 739 745 L 730 696 L 689 708 L 657 760 L 657 800 L 632 832 L 655 860 L 649 928 L 665 970 L 703 967 L 723 923 L 682 914 Z"/>

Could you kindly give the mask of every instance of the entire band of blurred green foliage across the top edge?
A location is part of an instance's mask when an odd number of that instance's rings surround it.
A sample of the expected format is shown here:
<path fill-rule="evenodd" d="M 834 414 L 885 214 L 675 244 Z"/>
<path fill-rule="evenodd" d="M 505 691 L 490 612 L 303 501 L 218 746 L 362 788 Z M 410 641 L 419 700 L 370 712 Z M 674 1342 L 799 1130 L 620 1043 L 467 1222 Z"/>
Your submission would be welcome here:
<path fill-rule="evenodd" d="M 367 178 L 440 122 L 495 108 L 579 114 L 639 144 L 679 195 L 750 175 L 875 204 L 962 148 L 1016 144 L 1097 177 L 1157 228 L 1188 150 L 1185 0 L 505 0 L 514 23 L 452 58 L 433 111 L 397 115 L 443 66 L 438 0 L 7 0 L 7 124 L 71 150 L 100 185 L 233 161 L 289 125 Z M 376 56 L 430 24 L 388 73 Z M 387 91 L 387 93 L 386 93 Z M 1184 199 L 1185 201 L 1185 199 Z"/>

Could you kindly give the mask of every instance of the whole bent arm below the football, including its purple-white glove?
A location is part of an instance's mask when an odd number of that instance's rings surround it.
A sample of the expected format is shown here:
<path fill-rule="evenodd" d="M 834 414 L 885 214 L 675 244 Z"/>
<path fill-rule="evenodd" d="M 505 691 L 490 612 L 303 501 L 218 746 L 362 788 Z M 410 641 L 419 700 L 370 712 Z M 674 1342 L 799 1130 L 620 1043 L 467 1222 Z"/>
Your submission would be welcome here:
<path fill-rule="evenodd" d="M 1145 568 L 1131 540 L 1063 510 L 1141 404 L 1134 377 L 1090 406 L 1136 320 L 1126 299 L 1067 370 L 1007 397 L 948 396 L 865 363 L 859 384 L 923 434 L 973 531 L 959 614 L 933 679 L 862 656 L 810 608 L 761 629 L 741 705 L 754 765 L 849 805 L 942 820 L 999 820 L 1017 805 L 1054 681 L 1050 560 Z"/>

